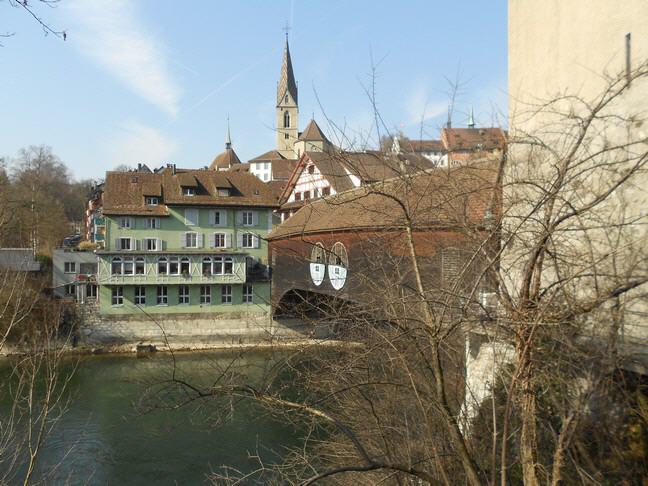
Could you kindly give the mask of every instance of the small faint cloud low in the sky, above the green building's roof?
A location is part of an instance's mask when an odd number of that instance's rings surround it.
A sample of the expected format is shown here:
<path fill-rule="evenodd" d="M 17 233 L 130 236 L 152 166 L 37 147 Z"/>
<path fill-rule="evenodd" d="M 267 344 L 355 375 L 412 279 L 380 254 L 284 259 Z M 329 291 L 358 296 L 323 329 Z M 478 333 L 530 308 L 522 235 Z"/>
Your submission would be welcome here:
<path fill-rule="evenodd" d="M 178 145 L 159 130 L 128 120 L 119 127 L 120 132 L 109 149 L 110 164 L 136 165 L 138 162 L 157 166 L 168 162 Z"/>

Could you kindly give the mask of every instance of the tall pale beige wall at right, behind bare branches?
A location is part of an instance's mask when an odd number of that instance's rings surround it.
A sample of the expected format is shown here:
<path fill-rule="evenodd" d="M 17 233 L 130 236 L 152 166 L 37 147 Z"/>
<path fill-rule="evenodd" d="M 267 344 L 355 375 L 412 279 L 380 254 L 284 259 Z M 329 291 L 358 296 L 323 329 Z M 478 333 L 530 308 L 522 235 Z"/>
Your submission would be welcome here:
<path fill-rule="evenodd" d="M 531 133 L 558 154 L 566 153 L 566 147 L 573 140 L 569 135 L 569 114 L 586 113 L 600 99 L 602 90 L 609 85 L 611 79 L 623 79 L 627 72 L 628 52 L 631 69 L 648 61 L 647 25 L 648 2 L 645 0 L 510 0 L 508 76 L 511 139 L 515 142 L 518 137 Z M 629 51 L 626 48 L 627 34 L 630 34 Z M 550 113 L 547 109 L 534 113 L 540 104 L 558 96 L 563 98 L 553 107 L 561 113 Z M 603 114 L 621 115 L 627 120 L 610 116 L 593 124 L 592 132 L 595 134 L 586 140 L 583 154 L 631 141 L 637 142 L 632 148 L 636 154 L 648 151 L 645 143 L 648 137 L 647 80 L 633 81 L 627 91 L 606 107 Z M 532 153 L 527 147 L 515 144 L 511 146 L 505 194 L 505 199 L 509 202 L 508 215 L 512 217 L 510 221 L 528 212 L 528 205 L 525 207 L 524 204 L 519 204 L 515 207 L 511 201 L 523 200 L 529 194 L 523 192 L 525 190 L 533 191 L 529 189 L 529 185 L 524 187 L 516 183 L 532 178 L 538 186 L 544 184 L 548 187 L 552 174 L 555 174 L 554 163 L 560 162 L 560 157 L 549 154 L 548 150 L 538 150 L 537 147 L 534 150 Z M 583 204 L 592 194 L 602 193 L 610 179 L 620 177 L 622 171 L 630 166 L 619 163 L 627 156 L 627 152 L 620 150 L 605 160 L 602 157 L 593 158 L 589 165 L 581 167 L 581 170 L 587 168 L 591 171 L 589 173 L 592 176 L 586 180 L 576 178 L 573 187 L 569 188 L 571 192 L 564 193 L 569 194 L 568 197 L 576 201 L 576 204 Z M 596 168 L 596 164 L 601 162 L 614 169 L 607 172 L 609 177 L 604 169 Z M 521 187 L 522 192 L 516 192 L 516 187 Z M 562 248 L 570 247 L 570 254 L 566 258 L 574 261 L 571 271 L 580 272 L 581 275 L 592 273 L 592 269 L 598 275 L 611 272 L 640 275 L 645 272 L 645 262 L 648 259 L 646 187 L 648 174 L 644 169 L 635 174 L 624 187 L 615 190 L 606 204 L 596 207 L 596 218 L 603 222 L 598 231 L 588 230 L 586 234 L 576 227 L 580 222 L 574 222 L 571 233 L 558 235 L 559 238 L 564 238 Z M 622 220 L 634 223 L 622 230 L 613 226 Z M 596 221 L 588 220 L 585 225 L 593 228 Z M 616 242 L 612 241 L 615 239 Z M 614 262 L 607 257 L 598 261 L 591 257 L 587 247 L 580 245 L 585 242 L 593 248 L 595 256 L 614 255 Z M 520 254 L 525 251 L 524 248 L 517 250 Z M 510 256 L 515 258 L 515 255 Z M 506 265 L 506 258 L 504 261 Z M 511 271 L 508 276 L 509 287 L 515 288 L 516 273 Z M 586 293 L 592 292 L 595 285 L 605 288 L 608 283 L 604 279 L 596 284 L 583 283 L 581 280 L 579 289 L 581 295 L 587 297 Z M 624 296 L 629 305 L 625 314 L 623 337 L 630 342 L 643 340 L 645 343 L 648 338 L 648 306 L 645 298 L 648 289 L 645 287 L 644 285 Z M 604 332 L 607 323 L 599 324 Z"/>

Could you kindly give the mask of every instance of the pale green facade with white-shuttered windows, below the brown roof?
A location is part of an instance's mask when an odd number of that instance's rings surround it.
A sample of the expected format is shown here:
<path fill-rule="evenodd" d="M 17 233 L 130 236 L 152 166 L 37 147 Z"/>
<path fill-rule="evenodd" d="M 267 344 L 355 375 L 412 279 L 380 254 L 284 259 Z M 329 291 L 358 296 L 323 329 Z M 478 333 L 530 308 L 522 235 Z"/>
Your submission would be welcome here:
<path fill-rule="evenodd" d="M 265 236 L 272 229 L 272 209 L 196 206 L 169 206 L 168 209 L 167 216 L 157 217 L 158 228 L 150 228 L 147 222 L 155 216 L 105 216 L 105 248 L 97 252 L 100 312 L 107 315 L 269 312 Z M 185 210 L 193 212 L 189 213 L 189 219 Z M 186 233 L 196 235 L 189 237 L 191 248 L 187 247 Z M 217 239 L 212 236 L 215 233 L 223 235 L 218 242 L 227 247 L 215 247 Z M 244 234 L 250 236 L 243 237 Z M 124 243 L 123 239 L 129 241 Z M 156 239 L 157 248 L 149 249 L 147 239 Z M 130 249 L 123 249 L 127 246 Z M 211 258 L 212 263 L 206 263 L 206 258 Z M 164 262 L 164 259 L 166 263 L 161 265 L 160 260 Z M 173 266 L 174 259 L 177 267 Z M 249 298 L 244 302 L 244 286 L 250 285 L 251 289 L 247 290 L 251 302 Z M 188 303 L 181 303 L 181 286 L 188 287 Z M 222 302 L 223 286 L 229 286 L 231 302 Z M 160 287 L 166 288 L 166 303 L 158 303 L 158 294 L 164 292 Z M 211 302 L 201 303 L 201 291 L 204 294 L 206 288 Z M 144 296 L 145 303 L 136 304 L 136 292 Z"/>

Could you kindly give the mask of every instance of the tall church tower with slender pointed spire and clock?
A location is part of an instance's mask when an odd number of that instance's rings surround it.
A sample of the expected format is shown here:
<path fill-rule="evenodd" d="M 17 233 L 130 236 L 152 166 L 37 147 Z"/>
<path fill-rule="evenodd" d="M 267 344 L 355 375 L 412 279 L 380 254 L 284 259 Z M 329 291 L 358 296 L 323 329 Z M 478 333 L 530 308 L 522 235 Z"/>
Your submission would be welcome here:
<path fill-rule="evenodd" d="M 286 158 L 295 158 L 294 145 L 297 141 L 299 108 L 297 106 L 297 83 L 292 71 L 290 49 L 288 48 L 288 34 L 286 34 L 286 47 L 284 49 L 281 75 L 277 84 L 277 151 Z"/>

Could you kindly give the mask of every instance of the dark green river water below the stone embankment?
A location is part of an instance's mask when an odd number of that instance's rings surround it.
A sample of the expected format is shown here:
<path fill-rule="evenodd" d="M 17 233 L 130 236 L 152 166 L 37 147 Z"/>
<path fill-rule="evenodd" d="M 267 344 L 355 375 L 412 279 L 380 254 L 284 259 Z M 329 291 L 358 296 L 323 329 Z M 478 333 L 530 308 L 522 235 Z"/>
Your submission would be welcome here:
<path fill-rule="evenodd" d="M 234 356 L 176 354 L 178 374 L 204 385 Z M 255 383 L 274 357 L 269 352 L 246 353 L 232 370 L 240 382 Z M 143 412 L 140 402 L 147 384 L 170 376 L 170 354 L 83 357 L 70 360 L 65 368 L 74 363 L 71 401 L 47 438 L 35 474 L 46 484 L 201 484 L 210 471 L 223 465 L 251 471 L 257 463 L 248 454 L 257 451 L 264 460 L 277 461 L 283 447 L 298 441 L 297 431 L 249 403 L 239 404 L 218 427 L 216 412 L 224 407 L 212 405 L 213 401 L 203 401 L 201 407 L 174 411 L 153 407 Z M 2 373 L 4 380 L 9 379 L 7 366 Z M 169 394 L 157 394 L 156 400 L 159 397 Z M 6 414 L 6 400 L 0 412 Z M 43 474 L 51 474 L 54 466 L 54 475 L 45 478 Z"/>

